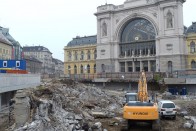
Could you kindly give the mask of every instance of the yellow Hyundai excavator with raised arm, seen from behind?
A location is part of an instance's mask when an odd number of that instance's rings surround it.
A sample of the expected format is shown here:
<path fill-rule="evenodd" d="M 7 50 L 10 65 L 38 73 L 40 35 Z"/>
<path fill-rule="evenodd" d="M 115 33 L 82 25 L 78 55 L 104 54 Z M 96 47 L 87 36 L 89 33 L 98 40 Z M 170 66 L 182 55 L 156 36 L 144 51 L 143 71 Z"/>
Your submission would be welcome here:
<path fill-rule="evenodd" d="M 159 113 L 156 102 L 148 100 L 147 80 L 144 71 L 138 82 L 136 101 L 128 101 L 123 107 L 123 118 L 127 120 L 128 129 L 135 122 L 149 122 L 153 130 L 159 130 Z"/>

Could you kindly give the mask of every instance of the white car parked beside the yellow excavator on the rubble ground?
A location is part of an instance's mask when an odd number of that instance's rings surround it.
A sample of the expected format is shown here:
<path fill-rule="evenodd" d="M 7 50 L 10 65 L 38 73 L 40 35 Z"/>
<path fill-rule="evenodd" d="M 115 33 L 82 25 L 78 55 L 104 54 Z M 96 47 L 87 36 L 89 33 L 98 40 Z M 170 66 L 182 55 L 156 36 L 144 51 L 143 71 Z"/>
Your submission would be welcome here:
<path fill-rule="evenodd" d="M 177 110 L 174 102 L 170 100 L 161 100 L 158 102 L 158 110 L 161 119 L 164 117 L 176 119 Z"/>

